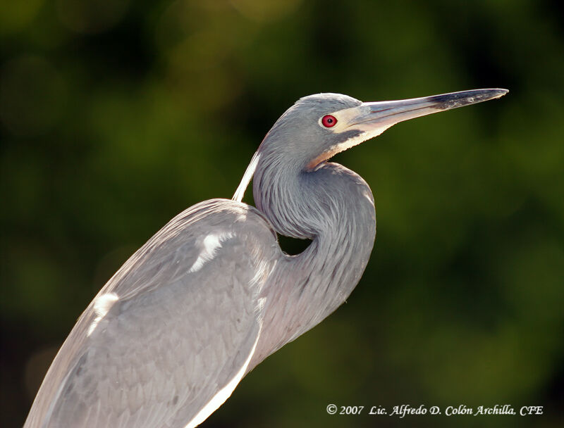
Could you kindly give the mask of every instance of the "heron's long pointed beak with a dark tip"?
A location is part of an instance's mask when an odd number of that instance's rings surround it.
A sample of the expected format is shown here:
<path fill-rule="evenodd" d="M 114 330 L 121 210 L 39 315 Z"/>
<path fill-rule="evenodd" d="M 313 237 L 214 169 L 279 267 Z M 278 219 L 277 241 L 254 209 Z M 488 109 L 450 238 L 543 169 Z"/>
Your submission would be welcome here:
<path fill-rule="evenodd" d="M 499 98 L 508 92 L 507 89 L 473 89 L 471 91 L 424 96 L 423 98 L 362 103 L 358 107 L 348 109 L 350 112 L 348 112 L 346 125 L 348 129 L 379 130 L 379 133 L 381 133 L 388 127 L 403 122 L 403 120 L 419 118 L 419 116 L 450 110 L 450 108 L 481 103 L 482 101 Z"/>

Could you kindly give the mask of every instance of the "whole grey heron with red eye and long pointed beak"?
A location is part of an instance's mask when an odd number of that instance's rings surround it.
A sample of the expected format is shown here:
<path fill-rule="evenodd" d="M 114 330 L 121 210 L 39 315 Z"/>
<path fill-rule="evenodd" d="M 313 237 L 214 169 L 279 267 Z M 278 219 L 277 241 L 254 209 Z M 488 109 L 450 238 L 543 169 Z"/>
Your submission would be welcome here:
<path fill-rule="evenodd" d="M 329 159 L 403 120 L 507 92 L 296 101 L 233 199 L 184 210 L 102 287 L 49 367 L 25 428 L 202 423 L 264 358 L 341 306 L 367 266 L 372 191 Z M 242 202 L 250 180 L 256 208 Z M 288 255 L 277 234 L 311 242 Z"/>

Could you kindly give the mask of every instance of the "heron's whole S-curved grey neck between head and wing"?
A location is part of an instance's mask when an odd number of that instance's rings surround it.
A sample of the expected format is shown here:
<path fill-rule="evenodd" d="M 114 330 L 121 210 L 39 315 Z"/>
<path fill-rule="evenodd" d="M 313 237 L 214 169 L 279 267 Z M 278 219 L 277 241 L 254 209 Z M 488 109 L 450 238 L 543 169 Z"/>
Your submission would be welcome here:
<path fill-rule="evenodd" d="M 336 163 L 305 172 L 259 162 L 254 196 L 276 232 L 312 239 L 298 256 L 276 264 L 263 289 L 257 364 L 345 301 L 368 263 L 376 216 L 368 184 Z"/>

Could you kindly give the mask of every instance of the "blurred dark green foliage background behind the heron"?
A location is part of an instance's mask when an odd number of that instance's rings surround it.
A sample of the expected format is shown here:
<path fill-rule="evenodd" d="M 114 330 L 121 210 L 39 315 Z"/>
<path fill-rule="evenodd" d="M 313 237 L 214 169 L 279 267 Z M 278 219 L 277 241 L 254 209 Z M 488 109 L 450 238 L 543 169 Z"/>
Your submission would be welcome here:
<path fill-rule="evenodd" d="M 510 94 L 405 122 L 336 158 L 376 197 L 364 277 L 202 427 L 563 426 L 560 2 L 0 8 L 2 427 L 23 424 L 54 353 L 115 270 L 184 208 L 231 197 L 300 96 L 480 87 Z M 543 405 L 544 415 L 400 420 L 329 416 L 329 403 Z"/>

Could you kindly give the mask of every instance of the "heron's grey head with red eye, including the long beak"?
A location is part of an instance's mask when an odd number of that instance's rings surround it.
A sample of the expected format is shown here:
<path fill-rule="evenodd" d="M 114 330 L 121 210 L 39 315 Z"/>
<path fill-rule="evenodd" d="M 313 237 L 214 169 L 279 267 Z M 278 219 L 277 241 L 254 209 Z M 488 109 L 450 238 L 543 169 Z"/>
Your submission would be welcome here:
<path fill-rule="evenodd" d="M 305 96 L 279 118 L 262 144 L 298 168 L 313 171 L 336 153 L 403 120 L 503 96 L 506 89 L 475 89 L 399 101 L 363 103 L 343 94 Z"/>

